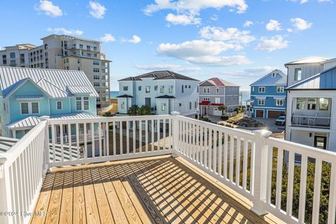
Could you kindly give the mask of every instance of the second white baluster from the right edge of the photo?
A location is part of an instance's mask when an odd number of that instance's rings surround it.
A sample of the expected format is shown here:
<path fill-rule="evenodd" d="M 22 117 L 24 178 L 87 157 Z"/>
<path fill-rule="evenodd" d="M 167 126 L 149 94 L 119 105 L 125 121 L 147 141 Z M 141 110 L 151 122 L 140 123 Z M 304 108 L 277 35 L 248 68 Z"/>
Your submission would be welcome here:
<path fill-rule="evenodd" d="M 320 214 L 320 195 L 321 195 L 321 172 L 322 161 L 315 160 L 315 178 L 314 178 L 314 199 L 313 199 L 313 214 L 311 223 L 318 223 L 318 216 Z M 334 211 L 335 213 L 335 211 Z"/>

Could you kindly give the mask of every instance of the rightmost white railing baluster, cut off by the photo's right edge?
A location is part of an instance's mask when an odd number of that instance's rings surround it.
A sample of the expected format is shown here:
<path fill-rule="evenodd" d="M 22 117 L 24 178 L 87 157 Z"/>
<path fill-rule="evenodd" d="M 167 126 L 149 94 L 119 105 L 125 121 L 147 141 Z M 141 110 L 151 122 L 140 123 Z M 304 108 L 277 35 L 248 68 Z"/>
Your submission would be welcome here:
<path fill-rule="evenodd" d="M 330 192 L 329 192 L 329 206 L 328 206 L 328 223 L 335 223 L 335 210 L 336 210 L 336 162 L 331 165 L 330 174 Z"/>

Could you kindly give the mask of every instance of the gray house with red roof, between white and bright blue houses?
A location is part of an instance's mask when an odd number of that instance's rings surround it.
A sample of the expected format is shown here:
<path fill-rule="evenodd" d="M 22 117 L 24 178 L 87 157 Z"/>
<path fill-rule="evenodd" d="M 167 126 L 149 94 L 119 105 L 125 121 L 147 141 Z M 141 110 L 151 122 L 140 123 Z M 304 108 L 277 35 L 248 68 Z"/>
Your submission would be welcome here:
<path fill-rule="evenodd" d="M 221 116 L 220 106 L 226 106 L 227 112 L 235 111 L 239 106 L 239 85 L 221 78 L 210 78 L 200 83 L 200 114 Z"/>

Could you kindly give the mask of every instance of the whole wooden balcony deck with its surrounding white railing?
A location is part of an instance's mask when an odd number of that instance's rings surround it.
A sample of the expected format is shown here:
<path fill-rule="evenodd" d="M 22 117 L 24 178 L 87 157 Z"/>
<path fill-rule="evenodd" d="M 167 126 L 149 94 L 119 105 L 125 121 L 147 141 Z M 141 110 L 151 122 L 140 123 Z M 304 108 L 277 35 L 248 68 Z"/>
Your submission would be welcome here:
<path fill-rule="evenodd" d="M 0 223 L 335 223 L 336 153 L 269 134 L 176 113 L 42 120 L 0 150 Z"/>

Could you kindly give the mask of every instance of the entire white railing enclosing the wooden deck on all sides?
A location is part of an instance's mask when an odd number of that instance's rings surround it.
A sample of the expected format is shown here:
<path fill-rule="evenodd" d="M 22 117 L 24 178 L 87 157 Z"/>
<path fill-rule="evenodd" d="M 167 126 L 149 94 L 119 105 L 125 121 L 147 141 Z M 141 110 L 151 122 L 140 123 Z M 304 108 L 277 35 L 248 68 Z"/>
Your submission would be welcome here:
<path fill-rule="evenodd" d="M 91 130 L 87 135 L 91 134 L 95 141 L 87 141 L 89 137 L 84 135 L 83 142 L 62 142 L 65 126 L 69 134 L 78 136 L 77 139 L 80 139 L 81 129 L 84 133 Z M 61 133 L 60 144 L 55 143 L 57 129 Z M 92 138 L 96 132 L 98 138 Z M 335 223 L 336 153 L 274 139 L 269 134 L 271 132 L 265 130 L 236 130 L 176 113 L 172 116 L 43 120 L 9 153 L 3 153 L 6 159 L 0 159 L 0 189 L 4 195 L 0 211 L 18 211 L 19 214 L 31 211 L 46 167 L 172 154 L 251 200 L 252 210 L 258 215 L 269 212 L 286 223 L 318 223 L 320 213 L 328 211 L 328 223 Z M 48 137 L 51 144 L 46 141 Z M 79 156 L 80 153 L 83 155 Z M 301 156 L 300 165 L 295 162 L 297 155 Z M 314 172 L 308 173 L 311 166 Z M 321 183 L 325 184 L 323 167 L 330 170 L 327 196 L 325 186 L 321 193 Z M 295 177 L 297 174 L 299 178 Z M 312 184 L 307 183 L 309 175 L 314 180 L 314 196 L 307 199 Z M 297 186 L 300 188 L 298 195 Z M 328 197 L 327 204 L 320 200 L 321 194 Z M 311 212 L 307 212 L 309 204 L 312 204 Z M 320 209 L 321 204 L 323 209 Z M 0 216 L 0 223 L 27 220 L 21 216 Z"/>

